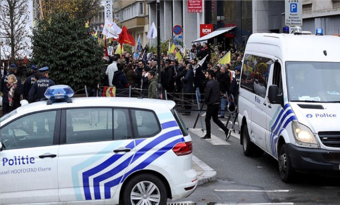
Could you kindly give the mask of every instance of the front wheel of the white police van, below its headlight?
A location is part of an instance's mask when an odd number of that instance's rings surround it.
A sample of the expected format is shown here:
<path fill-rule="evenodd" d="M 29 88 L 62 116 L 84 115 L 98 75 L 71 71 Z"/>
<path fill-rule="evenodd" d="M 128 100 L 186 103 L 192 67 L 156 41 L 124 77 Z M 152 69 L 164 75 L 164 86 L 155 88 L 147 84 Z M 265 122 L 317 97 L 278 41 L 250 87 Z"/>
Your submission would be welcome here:
<path fill-rule="evenodd" d="M 281 180 L 283 182 L 289 183 L 293 181 L 296 173 L 293 167 L 291 166 L 289 153 L 288 153 L 286 144 L 283 144 L 280 149 L 279 170 L 280 170 Z"/>

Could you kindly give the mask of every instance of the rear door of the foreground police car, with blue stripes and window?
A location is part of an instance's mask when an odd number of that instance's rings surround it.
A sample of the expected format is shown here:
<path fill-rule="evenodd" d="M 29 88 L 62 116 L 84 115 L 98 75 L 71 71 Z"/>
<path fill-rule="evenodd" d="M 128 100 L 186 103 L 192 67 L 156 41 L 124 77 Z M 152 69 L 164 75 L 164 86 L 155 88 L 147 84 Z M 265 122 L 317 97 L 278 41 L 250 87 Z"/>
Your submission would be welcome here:
<path fill-rule="evenodd" d="M 75 108 L 62 119 L 60 201 L 111 199 L 135 154 L 129 110 Z"/>

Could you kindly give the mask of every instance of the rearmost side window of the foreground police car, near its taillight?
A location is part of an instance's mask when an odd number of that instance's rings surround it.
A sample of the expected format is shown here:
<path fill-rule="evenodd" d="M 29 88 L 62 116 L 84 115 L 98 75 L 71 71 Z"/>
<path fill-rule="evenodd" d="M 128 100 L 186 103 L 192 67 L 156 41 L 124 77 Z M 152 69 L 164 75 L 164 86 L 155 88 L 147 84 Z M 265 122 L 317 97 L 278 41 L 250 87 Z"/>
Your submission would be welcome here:
<path fill-rule="evenodd" d="M 131 118 L 135 138 L 154 137 L 161 131 L 153 111 L 131 109 Z"/>

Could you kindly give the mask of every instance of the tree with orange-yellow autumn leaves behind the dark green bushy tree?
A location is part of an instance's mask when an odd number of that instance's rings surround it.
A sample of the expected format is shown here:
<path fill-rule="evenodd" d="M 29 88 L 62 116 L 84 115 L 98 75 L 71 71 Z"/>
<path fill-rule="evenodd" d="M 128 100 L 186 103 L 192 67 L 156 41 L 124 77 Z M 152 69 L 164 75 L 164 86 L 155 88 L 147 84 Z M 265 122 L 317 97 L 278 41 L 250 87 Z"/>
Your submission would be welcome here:
<path fill-rule="evenodd" d="M 55 13 L 68 12 L 71 16 L 91 20 L 98 14 L 101 0 L 45 0 L 43 3 L 44 18 L 51 18 Z"/>

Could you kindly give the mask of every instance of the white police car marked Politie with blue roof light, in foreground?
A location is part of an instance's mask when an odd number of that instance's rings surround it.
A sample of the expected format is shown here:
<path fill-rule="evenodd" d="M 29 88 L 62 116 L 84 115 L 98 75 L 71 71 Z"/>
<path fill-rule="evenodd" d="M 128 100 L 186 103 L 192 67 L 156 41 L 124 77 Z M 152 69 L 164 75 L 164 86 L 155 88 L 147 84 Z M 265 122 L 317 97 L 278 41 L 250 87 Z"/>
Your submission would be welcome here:
<path fill-rule="evenodd" d="M 165 205 L 196 189 L 173 101 L 71 95 L 52 86 L 1 118 L 1 205 Z"/>

